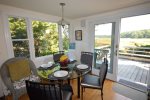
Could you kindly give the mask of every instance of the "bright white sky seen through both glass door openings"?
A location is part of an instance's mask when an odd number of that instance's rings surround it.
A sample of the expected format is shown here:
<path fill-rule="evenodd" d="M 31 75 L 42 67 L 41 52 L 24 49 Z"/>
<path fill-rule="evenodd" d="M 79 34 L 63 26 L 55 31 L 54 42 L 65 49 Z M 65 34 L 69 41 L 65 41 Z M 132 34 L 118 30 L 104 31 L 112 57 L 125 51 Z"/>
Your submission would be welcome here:
<path fill-rule="evenodd" d="M 121 19 L 121 32 L 150 29 L 150 14 Z M 111 35 L 112 23 L 95 27 L 95 35 Z"/>

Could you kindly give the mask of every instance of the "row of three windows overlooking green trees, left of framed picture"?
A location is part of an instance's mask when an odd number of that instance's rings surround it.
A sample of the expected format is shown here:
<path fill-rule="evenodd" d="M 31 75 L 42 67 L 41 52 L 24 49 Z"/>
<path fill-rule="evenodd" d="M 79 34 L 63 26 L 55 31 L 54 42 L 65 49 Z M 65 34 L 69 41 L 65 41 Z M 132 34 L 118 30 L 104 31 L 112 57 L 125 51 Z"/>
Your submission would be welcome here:
<path fill-rule="evenodd" d="M 31 51 L 35 52 L 35 57 L 47 56 L 58 52 L 59 46 L 64 51 L 68 51 L 69 49 L 68 25 L 61 28 L 61 37 L 59 37 L 57 23 L 33 20 L 31 21 L 32 29 L 30 29 L 33 31 L 33 38 L 29 38 L 28 35 L 31 33 L 28 32 L 31 31 L 27 29 L 30 26 L 28 26 L 26 18 L 10 16 L 8 17 L 8 21 L 14 57 L 30 58 L 30 56 L 34 55 Z M 62 43 L 62 45 L 59 45 L 59 43 Z M 29 48 L 29 44 L 31 48 Z M 33 49 L 32 44 L 34 44 Z"/>

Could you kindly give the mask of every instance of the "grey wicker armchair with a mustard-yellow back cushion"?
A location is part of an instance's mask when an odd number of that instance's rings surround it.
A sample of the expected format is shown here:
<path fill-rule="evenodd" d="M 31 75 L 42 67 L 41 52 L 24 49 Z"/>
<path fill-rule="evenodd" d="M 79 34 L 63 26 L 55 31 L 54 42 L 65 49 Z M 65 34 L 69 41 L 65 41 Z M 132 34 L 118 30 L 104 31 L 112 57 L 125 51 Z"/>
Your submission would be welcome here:
<path fill-rule="evenodd" d="M 1 78 L 12 93 L 13 100 L 26 93 L 25 80 L 39 80 L 36 66 L 28 58 L 16 57 L 5 61 L 0 69 Z"/>

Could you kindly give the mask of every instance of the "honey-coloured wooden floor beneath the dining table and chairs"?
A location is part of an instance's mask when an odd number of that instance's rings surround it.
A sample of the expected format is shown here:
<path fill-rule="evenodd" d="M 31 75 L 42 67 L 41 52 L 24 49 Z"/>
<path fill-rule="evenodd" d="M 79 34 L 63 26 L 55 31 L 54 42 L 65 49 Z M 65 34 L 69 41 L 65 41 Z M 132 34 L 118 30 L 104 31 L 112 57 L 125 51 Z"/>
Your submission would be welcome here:
<path fill-rule="evenodd" d="M 71 81 L 71 85 L 74 90 L 74 95 L 72 100 L 80 100 L 77 98 L 77 85 L 76 85 L 76 80 Z M 104 96 L 103 100 L 131 100 L 127 97 L 124 97 L 118 93 L 115 93 L 112 90 L 114 82 L 110 80 L 106 80 L 104 84 Z M 7 96 L 6 100 L 12 100 L 11 96 Z M 29 100 L 27 94 L 23 95 L 20 97 L 19 100 Z M 94 89 L 85 89 L 83 100 L 101 100 L 101 95 L 100 95 L 100 90 L 94 90 Z"/>

